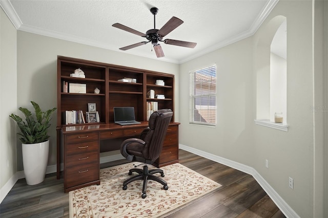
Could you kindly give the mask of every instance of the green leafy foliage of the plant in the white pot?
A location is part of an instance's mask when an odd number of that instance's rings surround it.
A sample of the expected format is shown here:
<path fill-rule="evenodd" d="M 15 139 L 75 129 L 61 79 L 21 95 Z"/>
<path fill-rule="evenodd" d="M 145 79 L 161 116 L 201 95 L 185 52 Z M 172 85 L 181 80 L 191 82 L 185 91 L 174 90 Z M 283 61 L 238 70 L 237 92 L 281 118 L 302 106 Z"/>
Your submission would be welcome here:
<path fill-rule="evenodd" d="M 35 117 L 32 113 L 24 107 L 19 107 L 18 110 L 23 112 L 25 115 L 25 121 L 17 115 L 11 114 L 11 117 L 14 121 L 16 121 L 20 133 L 18 135 L 22 136 L 19 140 L 23 144 L 34 144 L 45 142 L 49 139 L 48 136 L 48 129 L 50 127 L 50 120 L 51 115 L 56 110 L 56 107 L 49 109 L 46 112 L 41 111 L 39 105 L 34 101 L 31 101 L 34 110 L 35 110 Z M 36 118 L 36 120 L 35 120 Z"/>

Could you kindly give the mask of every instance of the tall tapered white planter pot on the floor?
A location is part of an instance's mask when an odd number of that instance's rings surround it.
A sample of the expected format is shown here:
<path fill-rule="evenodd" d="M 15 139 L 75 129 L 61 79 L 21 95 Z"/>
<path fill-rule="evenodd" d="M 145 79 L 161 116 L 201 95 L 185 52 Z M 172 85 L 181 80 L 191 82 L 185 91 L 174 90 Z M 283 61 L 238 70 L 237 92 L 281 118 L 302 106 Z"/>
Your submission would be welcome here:
<path fill-rule="evenodd" d="M 26 183 L 36 185 L 45 180 L 48 165 L 49 140 L 36 144 L 22 144 Z"/>

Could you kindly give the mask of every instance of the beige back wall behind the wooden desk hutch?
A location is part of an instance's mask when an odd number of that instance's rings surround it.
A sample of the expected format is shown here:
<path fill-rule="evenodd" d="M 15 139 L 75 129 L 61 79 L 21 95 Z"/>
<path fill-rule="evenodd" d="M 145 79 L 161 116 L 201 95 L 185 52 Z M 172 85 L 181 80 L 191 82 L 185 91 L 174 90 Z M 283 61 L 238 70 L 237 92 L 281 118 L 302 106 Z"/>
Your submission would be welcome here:
<path fill-rule="evenodd" d="M 175 75 L 179 82 L 178 64 L 127 55 L 61 39 L 18 31 L 17 34 L 17 105 L 31 107 L 31 100 L 37 102 L 43 110 L 57 106 L 57 55 L 118 64 L 134 68 L 159 71 Z M 179 93 L 176 85 L 176 93 Z M 175 107 L 179 108 L 178 95 Z M 51 124 L 50 154 L 48 165 L 56 164 L 56 119 Z M 175 112 L 179 119 L 179 111 Z M 21 148 L 17 152 L 18 170 L 22 170 Z"/>

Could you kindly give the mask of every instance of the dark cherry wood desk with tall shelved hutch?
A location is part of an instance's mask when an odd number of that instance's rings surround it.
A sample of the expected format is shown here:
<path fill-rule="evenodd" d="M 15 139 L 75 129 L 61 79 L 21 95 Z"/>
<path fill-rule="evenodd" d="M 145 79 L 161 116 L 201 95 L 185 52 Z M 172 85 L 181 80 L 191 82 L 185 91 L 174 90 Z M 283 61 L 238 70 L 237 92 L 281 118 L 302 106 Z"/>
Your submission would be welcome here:
<path fill-rule="evenodd" d="M 81 69 L 85 78 L 71 77 Z M 136 81 L 122 82 L 122 78 Z M 163 80 L 165 85 L 156 85 Z M 85 92 L 66 92 L 65 83 L 85 84 Z M 100 92 L 94 93 L 98 88 Z M 164 95 L 164 99 L 149 98 L 147 93 Z M 92 184 L 100 184 L 99 152 L 117 150 L 126 138 L 138 137 L 148 126 L 149 102 L 158 109 L 174 112 L 174 75 L 117 66 L 108 63 L 58 56 L 57 58 L 57 178 L 60 177 L 61 154 L 64 163 L 65 192 Z M 99 122 L 88 123 L 88 103 L 95 103 Z M 133 106 L 140 124 L 121 126 L 114 123 L 114 106 Z M 66 124 L 66 111 L 81 111 L 86 123 Z M 174 114 L 169 125 L 156 167 L 178 162 L 178 125 Z"/>

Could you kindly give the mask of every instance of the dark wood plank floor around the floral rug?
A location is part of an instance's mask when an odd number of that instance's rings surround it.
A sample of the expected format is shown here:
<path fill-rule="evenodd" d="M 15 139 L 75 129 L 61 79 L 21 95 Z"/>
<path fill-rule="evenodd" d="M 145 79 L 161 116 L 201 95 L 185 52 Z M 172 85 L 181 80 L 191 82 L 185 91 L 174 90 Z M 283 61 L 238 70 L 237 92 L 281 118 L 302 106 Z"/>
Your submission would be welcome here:
<path fill-rule="evenodd" d="M 101 168 L 126 163 L 101 164 Z M 168 217 L 285 217 L 254 178 L 247 173 L 179 150 L 179 163 L 222 185 L 222 188 Z M 69 217 L 68 193 L 55 173 L 29 186 L 18 180 L 0 205 L 0 217 Z"/>

